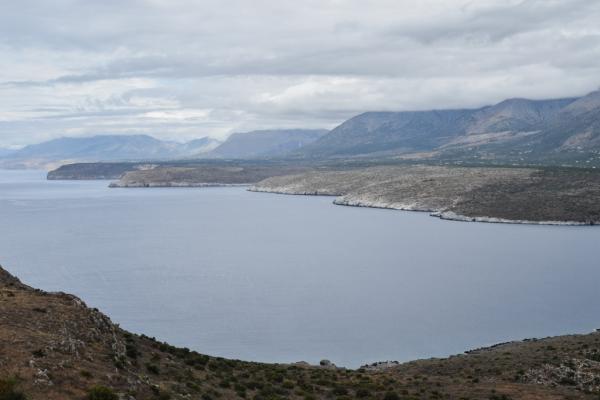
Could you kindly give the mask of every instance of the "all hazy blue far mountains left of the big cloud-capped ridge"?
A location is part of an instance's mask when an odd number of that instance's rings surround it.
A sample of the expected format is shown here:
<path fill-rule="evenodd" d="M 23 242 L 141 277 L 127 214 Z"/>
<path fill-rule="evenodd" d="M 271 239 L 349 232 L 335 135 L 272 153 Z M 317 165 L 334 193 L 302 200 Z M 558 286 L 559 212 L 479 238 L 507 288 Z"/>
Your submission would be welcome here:
<path fill-rule="evenodd" d="M 221 142 L 203 137 L 185 143 L 148 135 L 65 137 L 19 150 L 0 149 L 0 167 L 54 167 L 73 162 L 182 159 L 281 158 L 327 133 L 324 129 L 280 129 L 234 133 Z"/>

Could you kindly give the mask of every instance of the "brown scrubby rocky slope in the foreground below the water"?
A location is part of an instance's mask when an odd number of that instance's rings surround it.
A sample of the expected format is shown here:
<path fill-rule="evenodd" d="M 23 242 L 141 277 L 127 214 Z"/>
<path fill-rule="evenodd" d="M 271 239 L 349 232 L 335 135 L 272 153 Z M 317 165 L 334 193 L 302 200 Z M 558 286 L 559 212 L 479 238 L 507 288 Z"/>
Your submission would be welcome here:
<path fill-rule="evenodd" d="M 358 370 L 226 360 L 129 333 L 0 268 L 0 399 L 597 399 L 600 334 Z"/>

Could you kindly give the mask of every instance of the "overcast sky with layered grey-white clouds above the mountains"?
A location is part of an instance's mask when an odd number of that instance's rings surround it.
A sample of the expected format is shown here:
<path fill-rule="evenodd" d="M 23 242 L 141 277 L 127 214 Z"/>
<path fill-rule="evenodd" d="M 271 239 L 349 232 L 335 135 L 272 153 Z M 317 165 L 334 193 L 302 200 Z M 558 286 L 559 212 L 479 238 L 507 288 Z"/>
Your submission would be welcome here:
<path fill-rule="evenodd" d="M 600 86 L 596 0 L 0 3 L 0 147 L 331 128 Z"/>

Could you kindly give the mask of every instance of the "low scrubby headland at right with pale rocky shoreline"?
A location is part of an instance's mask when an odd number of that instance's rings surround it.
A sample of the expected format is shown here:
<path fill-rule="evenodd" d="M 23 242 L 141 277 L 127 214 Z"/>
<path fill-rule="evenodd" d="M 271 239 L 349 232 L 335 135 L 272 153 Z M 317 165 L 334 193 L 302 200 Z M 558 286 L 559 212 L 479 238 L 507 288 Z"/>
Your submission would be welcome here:
<path fill-rule="evenodd" d="M 250 190 L 334 195 L 335 204 L 453 220 L 600 223 L 600 171 L 593 169 L 382 166 L 272 177 Z"/>

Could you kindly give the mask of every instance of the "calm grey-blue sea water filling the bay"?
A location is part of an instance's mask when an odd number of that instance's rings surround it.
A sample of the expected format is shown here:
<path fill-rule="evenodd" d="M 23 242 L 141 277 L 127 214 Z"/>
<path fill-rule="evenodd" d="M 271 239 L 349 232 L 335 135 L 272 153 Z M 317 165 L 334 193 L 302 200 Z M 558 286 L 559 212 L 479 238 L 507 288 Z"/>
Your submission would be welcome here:
<path fill-rule="evenodd" d="M 600 328 L 600 228 L 0 171 L 0 264 L 203 353 L 356 367 Z"/>

